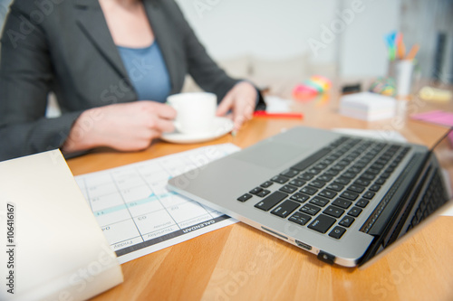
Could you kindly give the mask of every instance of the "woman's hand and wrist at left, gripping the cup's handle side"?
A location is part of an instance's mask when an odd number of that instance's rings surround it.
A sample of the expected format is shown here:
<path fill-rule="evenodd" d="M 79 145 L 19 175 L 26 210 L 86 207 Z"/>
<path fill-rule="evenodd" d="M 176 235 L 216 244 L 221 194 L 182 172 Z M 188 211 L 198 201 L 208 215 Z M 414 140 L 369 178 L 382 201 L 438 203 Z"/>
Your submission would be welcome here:
<path fill-rule="evenodd" d="M 62 149 L 66 153 L 98 146 L 145 149 L 152 139 L 174 131 L 175 117 L 174 108 L 147 100 L 91 108 L 77 118 Z"/>

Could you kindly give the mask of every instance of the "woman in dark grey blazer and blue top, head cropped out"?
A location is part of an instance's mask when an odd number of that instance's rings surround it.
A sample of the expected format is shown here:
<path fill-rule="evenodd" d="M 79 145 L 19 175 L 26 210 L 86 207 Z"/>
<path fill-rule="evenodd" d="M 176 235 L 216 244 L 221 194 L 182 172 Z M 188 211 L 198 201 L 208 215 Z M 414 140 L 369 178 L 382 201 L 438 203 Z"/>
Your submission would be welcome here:
<path fill-rule="evenodd" d="M 232 110 L 236 129 L 252 117 L 256 89 L 218 68 L 173 1 L 16 0 L 2 35 L 0 160 L 146 148 L 174 130 L 162 102 L 187 73 L 221 99 L 217 115 Z M 50 91 L 59 118 L 44 117 Z"/>

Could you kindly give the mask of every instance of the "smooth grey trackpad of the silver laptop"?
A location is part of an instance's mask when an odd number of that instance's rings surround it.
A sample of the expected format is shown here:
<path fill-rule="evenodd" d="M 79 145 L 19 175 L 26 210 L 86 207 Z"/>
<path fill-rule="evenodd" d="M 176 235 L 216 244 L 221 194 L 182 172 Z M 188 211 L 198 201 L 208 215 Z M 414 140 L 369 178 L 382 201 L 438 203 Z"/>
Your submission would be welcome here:
<path fill-rule="evenodd" d="M 255 147 L 250 147 L 248 149 L 249 151 L 238 153 L 236 159 L 261 167 L 275 169 L 293 161 L 294 158 L 303 155 L 304 152 L 312 147 L 269 142 L 265 144 L 265 146 L 261 146 L 259 150 L 254 148 Z"/>

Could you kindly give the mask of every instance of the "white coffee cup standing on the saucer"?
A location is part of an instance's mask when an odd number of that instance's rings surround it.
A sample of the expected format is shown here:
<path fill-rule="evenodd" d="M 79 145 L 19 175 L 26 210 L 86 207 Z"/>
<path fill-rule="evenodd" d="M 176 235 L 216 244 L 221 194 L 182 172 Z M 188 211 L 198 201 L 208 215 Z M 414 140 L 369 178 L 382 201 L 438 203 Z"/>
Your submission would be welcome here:
<path fill-rule="evenodd" d="M 177 111 L 174 124 L 178 132 L 202 134 L 212 130 L 212 124 L 216 118 L 216 94 L 179 93 L 169 96 L 167 102 Z"/>

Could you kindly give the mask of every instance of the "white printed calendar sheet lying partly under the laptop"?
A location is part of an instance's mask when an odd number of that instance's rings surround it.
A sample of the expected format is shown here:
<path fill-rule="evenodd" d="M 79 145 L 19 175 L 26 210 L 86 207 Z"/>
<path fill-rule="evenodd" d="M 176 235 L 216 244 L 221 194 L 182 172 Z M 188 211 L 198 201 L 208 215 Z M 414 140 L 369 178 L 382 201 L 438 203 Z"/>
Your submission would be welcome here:
<path fill-rule="evenodd" d="M 124 263 L 235 223 L 166 186 L 169 178 L 239 149 L 233 144 L 205 146 L 75 178 Z"/>

